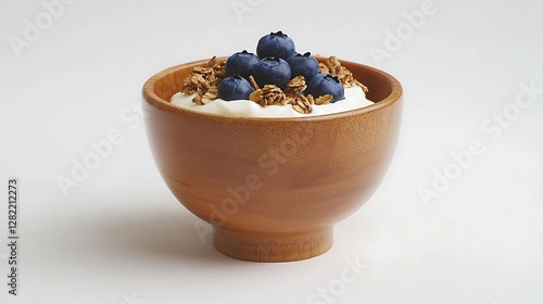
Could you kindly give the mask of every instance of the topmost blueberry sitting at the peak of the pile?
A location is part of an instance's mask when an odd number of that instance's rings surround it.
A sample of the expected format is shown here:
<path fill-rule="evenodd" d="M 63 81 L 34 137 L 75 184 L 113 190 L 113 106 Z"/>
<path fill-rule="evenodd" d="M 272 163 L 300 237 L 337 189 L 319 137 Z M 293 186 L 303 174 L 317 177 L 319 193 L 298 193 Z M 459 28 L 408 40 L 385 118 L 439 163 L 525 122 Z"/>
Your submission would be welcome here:
<path fill-rule="evenodd" d="M 256 45 L 256 54 L 260 58 L 277 56 L 287 60 L 295 53 L 294 41 L 280 30 L 262 37 Z"/>

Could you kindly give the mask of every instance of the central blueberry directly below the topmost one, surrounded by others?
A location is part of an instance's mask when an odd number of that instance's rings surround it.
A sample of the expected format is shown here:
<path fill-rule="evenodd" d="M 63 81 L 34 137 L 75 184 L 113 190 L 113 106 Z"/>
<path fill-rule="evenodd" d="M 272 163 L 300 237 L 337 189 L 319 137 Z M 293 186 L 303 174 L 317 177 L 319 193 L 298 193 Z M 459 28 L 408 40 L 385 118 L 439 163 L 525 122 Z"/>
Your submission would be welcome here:
<path fill-rule="evenodd" d="M 265 58 L 255 66 L 253 77 L 261 87 L 276 85 L 283 89 L 290 80 L 290 66 L 280 58 Z"/>

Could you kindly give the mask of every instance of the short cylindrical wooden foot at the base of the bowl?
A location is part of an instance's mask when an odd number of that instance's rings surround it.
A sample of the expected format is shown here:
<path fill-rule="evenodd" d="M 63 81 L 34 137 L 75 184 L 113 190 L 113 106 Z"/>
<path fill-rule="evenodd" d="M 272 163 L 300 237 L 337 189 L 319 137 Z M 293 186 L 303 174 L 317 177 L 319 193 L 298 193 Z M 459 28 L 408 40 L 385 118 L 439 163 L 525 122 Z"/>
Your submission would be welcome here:
<path fill-rule="evenodd" d="M 213 227 L 213 244 L 219 252 L 244 261 L 289 262 L 327 252 L 333 242 L 333 227 L 294 232 L 265 233 Z"/>

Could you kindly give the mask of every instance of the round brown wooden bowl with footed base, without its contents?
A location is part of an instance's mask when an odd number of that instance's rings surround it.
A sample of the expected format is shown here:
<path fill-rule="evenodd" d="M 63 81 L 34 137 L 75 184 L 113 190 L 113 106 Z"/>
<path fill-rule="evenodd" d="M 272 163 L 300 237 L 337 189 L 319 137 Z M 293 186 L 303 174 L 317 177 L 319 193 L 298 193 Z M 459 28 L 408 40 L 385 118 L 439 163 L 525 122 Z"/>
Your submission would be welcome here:
<path fill-rule="evenodd" d="M 171 104 L 192 67 L 206 63 L 167 68 L 143 86 L 149 144 L 166 185 L 213 225 L 213 243 L 226 255 L 285 262 L 328 251 L 333 224 L 368 200 L 390 163 L 400 83 L 341 61 L 375 104 L 302 118 L 227 117 Z"/>

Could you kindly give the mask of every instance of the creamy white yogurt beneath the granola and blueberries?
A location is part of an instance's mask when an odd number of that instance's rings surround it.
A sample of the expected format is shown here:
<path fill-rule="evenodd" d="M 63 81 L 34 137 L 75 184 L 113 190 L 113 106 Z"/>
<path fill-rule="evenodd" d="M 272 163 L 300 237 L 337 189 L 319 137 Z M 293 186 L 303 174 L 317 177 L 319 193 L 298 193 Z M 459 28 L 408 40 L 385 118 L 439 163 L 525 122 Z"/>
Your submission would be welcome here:
<path fill-rule="evenodd" d="M 313 112 L 310 114 L 299 113 L 292 109 L 292 105 L 290 104 L 261 106 L 250 100 L 225 101 L 216 99 L 207 104 L 201 105 L 192 102 L 194 97 L 197 97 L 197 93 L 187 96 L 178 92 L 172 97 L 172 103 L 185 109 L 224 116 L 267 118 L 317 116 L 344 112 L 374 104 L 374 102 L 366 99 L 366 94 L 358 86 L 345 88 L 345 99 L 343 100 L 321 105 L 314 104 Z"/>

